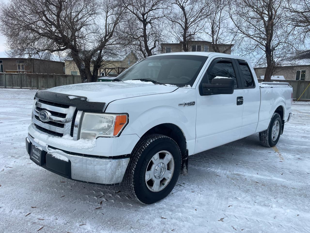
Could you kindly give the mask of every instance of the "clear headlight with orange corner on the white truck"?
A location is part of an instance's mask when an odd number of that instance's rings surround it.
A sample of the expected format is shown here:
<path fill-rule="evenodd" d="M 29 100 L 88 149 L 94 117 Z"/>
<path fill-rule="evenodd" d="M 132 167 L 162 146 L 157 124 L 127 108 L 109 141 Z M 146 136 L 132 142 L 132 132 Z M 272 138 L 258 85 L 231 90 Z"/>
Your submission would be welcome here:
<path fill-rule="evenodd" d="M 128 123 L 126 114 L 104 114 L 84 112 L 80 139 L 115 137 Z"/>

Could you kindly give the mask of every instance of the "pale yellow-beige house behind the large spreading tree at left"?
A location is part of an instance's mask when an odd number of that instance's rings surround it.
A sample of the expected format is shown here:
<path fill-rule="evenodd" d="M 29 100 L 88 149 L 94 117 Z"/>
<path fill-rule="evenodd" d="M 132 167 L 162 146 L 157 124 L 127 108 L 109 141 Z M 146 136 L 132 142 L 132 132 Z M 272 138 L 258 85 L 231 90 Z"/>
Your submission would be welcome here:
<path fill-rule="evenodd" d="M 138 61 L 137 56 L 133 51 L 126 54 L 123 59 L 120 60 L 107 60 L 102 62 L 102 68 L 99 70 L 99 74 L 112 75 L 120 74 L 122 71 L 126 70 L 130 66 L 134 65 Z M 78 67 L 72 60 L 65 60 L 65 71 L 69 75 L 80 75 Z"/>

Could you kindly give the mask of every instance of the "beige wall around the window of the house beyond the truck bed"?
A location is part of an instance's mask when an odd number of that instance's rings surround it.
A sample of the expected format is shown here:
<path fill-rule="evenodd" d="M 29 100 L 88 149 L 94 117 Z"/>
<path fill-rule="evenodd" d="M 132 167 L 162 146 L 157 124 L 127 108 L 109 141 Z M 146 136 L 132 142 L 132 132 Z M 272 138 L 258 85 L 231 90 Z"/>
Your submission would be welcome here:
<path fill-rule="evenodd" d="M 266 68 L 255 68 L 255 74 L 257 78 L 265 75 Z M 283 75 L 286 80 L 295 80 L 296 79 L 296 71 L 305 70 L 306 71 L 306 79 L 310 80 L 310 65 L 306 66 L 281 66 L 277 67 L 275 72 L 272 75 Z"/>

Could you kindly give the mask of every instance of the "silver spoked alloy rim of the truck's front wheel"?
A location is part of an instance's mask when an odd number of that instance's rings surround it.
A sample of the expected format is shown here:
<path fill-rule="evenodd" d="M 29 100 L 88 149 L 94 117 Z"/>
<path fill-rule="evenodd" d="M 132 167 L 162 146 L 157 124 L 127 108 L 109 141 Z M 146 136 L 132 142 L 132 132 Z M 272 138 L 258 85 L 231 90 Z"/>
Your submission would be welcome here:
<path fill-rule="evenodd" d="M 152 192 L 163 190 L 174 171 L 174 159 L 170 152 L 162 150 L 151 158 L 145 171 L 145 184 Z"/>

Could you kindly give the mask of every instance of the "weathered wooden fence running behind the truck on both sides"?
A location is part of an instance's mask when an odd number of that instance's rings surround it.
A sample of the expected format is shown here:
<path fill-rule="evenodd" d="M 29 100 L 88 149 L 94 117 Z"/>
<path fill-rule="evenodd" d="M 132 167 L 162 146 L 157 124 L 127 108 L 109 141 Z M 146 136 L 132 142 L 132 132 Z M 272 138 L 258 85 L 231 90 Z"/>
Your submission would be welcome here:
<path fill-rule="evenodd" d="M 259 80 L 262 82 L 263 80 Z M 299 98 L 307 88 L 310 80 L 272 80 L 275 82 L 288 82 L 293 87 L 293 98 Z M 19 89 L 47 89 L 68 84 L 81 83 L 80 75 L 56 74 L 27 74 L 27 73 L 0 73 L 0 88 Z M 310 87 L 300 99 L 310 100 Z"/>

